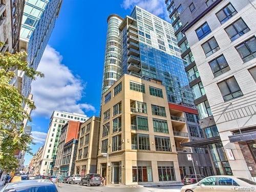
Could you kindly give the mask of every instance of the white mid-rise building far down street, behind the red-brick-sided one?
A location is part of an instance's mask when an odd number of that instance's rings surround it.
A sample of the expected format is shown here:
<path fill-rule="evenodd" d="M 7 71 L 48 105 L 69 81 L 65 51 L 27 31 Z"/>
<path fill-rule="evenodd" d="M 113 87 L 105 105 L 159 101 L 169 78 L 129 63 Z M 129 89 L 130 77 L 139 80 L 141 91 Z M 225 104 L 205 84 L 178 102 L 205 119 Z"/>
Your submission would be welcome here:
<path fill-rule="evenodd" d="M 53 174 L 53 167 L 58 152 L 57 147 L 59 143 L 61 127 L 65 125 L 69 120 L 84 122 L 87 119 L 88 118 L 86 115 L 78 113 L 53 111 L 49 123 L 49 130 L 47 133 L 44 150 L 42 152 L 42 159 L 40 163 L 40 175 Z"/>

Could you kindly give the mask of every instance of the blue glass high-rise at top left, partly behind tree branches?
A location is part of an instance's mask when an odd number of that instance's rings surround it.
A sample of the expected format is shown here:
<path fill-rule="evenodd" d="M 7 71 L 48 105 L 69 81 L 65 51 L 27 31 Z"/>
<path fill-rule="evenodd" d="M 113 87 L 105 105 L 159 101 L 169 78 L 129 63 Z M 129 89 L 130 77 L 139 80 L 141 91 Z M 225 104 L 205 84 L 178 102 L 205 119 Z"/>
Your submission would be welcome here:
<path fill-rule="evenodd" d="M 61 2 L 61 0 L 26 0 L 25 2 L 19 50 L 27 51 L 28 65 L 34 69 L 37 69 L 45 51 Z M 31 91 L 32 79 L 26 77 L 23 71 L 19 71 L 18 75 L 19 89 L 27 97 Z"/>

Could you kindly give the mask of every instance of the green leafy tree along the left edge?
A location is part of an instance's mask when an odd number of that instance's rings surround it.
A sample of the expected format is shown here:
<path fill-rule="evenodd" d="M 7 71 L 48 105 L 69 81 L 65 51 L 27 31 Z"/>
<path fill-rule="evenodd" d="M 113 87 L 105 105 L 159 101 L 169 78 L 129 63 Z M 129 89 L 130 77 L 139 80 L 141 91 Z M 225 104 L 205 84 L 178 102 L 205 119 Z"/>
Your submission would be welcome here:
<path fill-rule="evenodd" d="M 4 46 L 0 42 L 0 47 Z M 32 78 L 44 77 L 44 74 L 28 67 L 27 54 L 19 52 L 0 53 L 0 168 L 6 172 L 18 168 L 18 161 L 14 157 L 17 151 L 30 152 L 32 137 L 24 134 L 24 118 L 31 120 L 24 110 L 23 103 L 34 110 L 34 103 L 24 97 L 10 81 L 17 78 L 15 70 L 22 70 L 26 76 Z"/>

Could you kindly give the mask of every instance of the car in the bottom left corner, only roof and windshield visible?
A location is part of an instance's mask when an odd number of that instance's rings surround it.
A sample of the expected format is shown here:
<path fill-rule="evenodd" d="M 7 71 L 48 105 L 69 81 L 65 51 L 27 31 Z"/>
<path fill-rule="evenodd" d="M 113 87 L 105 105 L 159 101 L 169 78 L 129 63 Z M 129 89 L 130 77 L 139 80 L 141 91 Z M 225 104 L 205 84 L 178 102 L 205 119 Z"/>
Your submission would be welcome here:
<path fill-rule="evenodd" d="M 15 183 L 8 183 L 0 192 L 19 192 L 19 191 L 47 191 L 47 192 L 59 192 L 56 185 L 49 180 L 26 180 L 18 181 Z"/>

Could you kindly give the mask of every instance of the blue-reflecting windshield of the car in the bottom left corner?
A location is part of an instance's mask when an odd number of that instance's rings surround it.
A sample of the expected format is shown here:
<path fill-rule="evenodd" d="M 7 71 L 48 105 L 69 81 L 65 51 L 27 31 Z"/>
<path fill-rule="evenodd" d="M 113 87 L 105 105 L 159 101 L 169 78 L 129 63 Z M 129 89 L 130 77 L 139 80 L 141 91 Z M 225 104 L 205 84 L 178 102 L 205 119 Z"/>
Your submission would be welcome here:
<path fill-rule="evenodd" d="M 5 189 L 5 192 L 58 192 L 55 185 L 44 185 L 44 186 L 26 186 Z"/>

